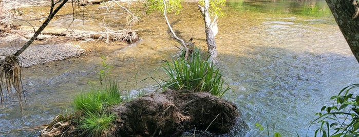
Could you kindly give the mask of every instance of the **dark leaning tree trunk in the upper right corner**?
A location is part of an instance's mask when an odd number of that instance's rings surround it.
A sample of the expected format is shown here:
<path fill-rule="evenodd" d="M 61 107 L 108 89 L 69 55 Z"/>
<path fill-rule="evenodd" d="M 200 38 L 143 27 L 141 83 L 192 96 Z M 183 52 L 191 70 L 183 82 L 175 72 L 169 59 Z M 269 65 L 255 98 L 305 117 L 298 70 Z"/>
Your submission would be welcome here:
<path fill-rule="evenodd" d="M 356 0 L 326 0 L 336 23 L 359 62 L 359 6 Z"/>

